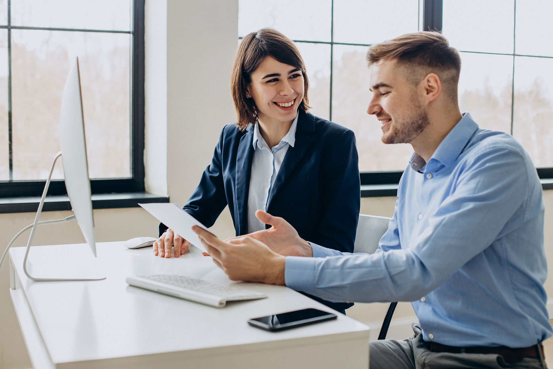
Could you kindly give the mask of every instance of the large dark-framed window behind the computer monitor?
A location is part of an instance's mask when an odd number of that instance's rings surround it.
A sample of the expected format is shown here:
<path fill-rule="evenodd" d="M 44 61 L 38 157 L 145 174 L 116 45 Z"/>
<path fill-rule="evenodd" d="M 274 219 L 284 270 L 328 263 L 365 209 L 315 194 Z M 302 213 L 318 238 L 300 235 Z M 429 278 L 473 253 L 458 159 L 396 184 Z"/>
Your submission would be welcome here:
<path fill-rule="evenodd" d="M 144 190 L 143 25 L 144 0 L 0 0 L 0 197 L 42 193 L 75 56 L 92 193 Z"/>

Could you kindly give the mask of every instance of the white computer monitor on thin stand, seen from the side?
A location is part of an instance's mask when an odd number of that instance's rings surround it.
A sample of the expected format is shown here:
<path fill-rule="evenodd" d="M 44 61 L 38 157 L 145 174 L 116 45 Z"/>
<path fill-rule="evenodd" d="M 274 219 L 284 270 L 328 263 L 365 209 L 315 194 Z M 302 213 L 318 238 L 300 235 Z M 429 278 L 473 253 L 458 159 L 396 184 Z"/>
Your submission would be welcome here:
<path fill-rule="evenodd" d="M 90 191 L 90 179 L 88 178 L 88 160 L 86 157 L 85 123 L 82 113 L 81 82 L 79 74 L 79 59 L 72 61 L 71 70 L 65 82 L 64 93 L 61 99 L 60 110 L 60 144 L 61 152 L 55 155 L 50 175 L 46 180 L 44 192 L 40 199 L 36 212 L 27 252 L 23 262 L 23 270 L 27 277 L 35 281 L 61 281 L 61 280 L 98 280 L 105 279 L 101 266 L 94 260 L 81 258 L 80 263 L 63 263 L 60 266 L 44 265 L 28 261 L 30 244 L 33 240 L 40 212 L 44 205 L 46 193 L 54 170 L 56 160 L 61 156 L 64 166 L 65 187 L 67 196 L 71 202 L 77 224 L 81 228 L 82 235 L 96 257 L 96 236 L 94 230 L 94 217 L 92 215 L 92 200 Z M 61 240 L 63 236 L 60 236 Z M 63 243 L 63 242 L 60 242 Z M 93 259 L 93 258 L 92 258 Z"/>

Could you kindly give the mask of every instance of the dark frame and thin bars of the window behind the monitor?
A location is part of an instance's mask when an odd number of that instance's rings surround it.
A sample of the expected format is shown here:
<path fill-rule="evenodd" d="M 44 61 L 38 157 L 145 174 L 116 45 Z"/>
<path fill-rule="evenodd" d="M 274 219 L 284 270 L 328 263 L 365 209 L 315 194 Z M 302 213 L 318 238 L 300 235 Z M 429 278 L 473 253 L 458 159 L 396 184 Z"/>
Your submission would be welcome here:
<path fill-rule="evenodd" d="M 92 194 L 111 193 L 138 193 L 144 192 L 144 1 L 132 1 L 132 29 L 129 33 L 132 37 L 131 58 L 131 134 L 130 178 L 91 179 L 90 188 Z M 12 178 L 12 103 L 11 103 L 11 30 L 12 29 L 41 29 L 41 30 L 65 30 L 67 32 L 111 32 L 105 30 L 51 28 L 51 27 L 20 27 L 11 25 L 11 0 L 8 0 L 8 24 L 1 25 L 0 29 L 8 29 L 8 141 L 10 178 Z M 44 191 L 46 180 L 0 181 L 0 198 L 18 198 L 22 196 L 40 196 Z M 48 189 L 48 195 L 66 195 L 65 181 L 63 179 L 52 180 Z"/>

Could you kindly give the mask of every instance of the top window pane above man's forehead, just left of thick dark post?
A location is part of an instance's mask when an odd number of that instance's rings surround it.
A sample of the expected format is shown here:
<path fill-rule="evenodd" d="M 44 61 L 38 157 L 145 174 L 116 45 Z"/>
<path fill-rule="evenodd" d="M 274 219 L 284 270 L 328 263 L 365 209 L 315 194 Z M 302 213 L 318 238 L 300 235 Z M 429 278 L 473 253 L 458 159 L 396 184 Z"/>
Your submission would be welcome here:
<path fill-rule="evenodd" d="M 418 29 L 418 0 L 334 2 L 335 42 L 374 44 Z"/>

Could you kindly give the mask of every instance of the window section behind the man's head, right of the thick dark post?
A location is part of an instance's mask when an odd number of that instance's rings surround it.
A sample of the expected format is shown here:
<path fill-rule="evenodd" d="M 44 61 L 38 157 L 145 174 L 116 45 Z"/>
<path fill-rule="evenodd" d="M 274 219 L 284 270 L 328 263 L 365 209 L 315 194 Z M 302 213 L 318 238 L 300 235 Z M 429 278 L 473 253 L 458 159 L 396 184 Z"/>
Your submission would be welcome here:
<path fill-rule="evenodd" d="M 512 134 L 542 178 L 553 177 L 551 17 L 547 0 L 445 0 L 443 7 L 444 34 L 461 51 L 461 111 L 482 128 Z"/>

